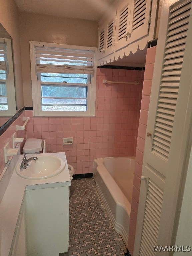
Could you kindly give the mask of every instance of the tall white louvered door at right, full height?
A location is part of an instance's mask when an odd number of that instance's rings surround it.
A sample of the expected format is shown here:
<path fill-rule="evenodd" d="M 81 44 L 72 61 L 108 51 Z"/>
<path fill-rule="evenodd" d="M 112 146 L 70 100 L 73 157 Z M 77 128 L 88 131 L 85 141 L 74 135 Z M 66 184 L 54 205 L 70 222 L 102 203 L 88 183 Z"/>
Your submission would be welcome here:
<path fill-rule="evenodd" d="M 174 245 L 179 186 L 191 129 L 192 56 L 191 0 L 174 2 L 164 1 L 161 16 L 134 256 L 166 256 L 169 252 L 154 252 L 153 246 Z"/>

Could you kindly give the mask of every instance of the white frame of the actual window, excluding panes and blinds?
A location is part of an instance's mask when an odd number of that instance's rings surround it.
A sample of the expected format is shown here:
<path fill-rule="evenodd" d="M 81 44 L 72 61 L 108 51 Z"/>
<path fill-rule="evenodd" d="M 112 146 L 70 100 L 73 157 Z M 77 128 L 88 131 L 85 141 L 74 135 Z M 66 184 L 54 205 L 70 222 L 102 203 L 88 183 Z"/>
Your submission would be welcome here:
<path fill-rule="evenodd" d="M 30 41 L 30 58 L 31 58 L 31 82 L 32 82 L 32 98 L 33 98 L 33 116 L 95 116 L 95 99 L 96 99 L 96 53 L 97 48 L 95 47 L 85 47 L 85 46 L 75 46 L 75 45 L 64 45 L 64 44 L 55 44 L 55 43 L 43 43 Z M 76 50 L 90 50 L 95 51 L 94 55 L 94 74 L 91 75 L 90 84 L 73 84 L 73 85 L 82 85 L 87 86 L 87 111 L 43 111 L 41 105 L 41 81 L 38 81 L 37 72 L 36 72 L 36 59 L 35 59 L 35 46 L 45 46 L 45 47 L 57 47 L 57 48 L 67 48 L 67 49 L 76 49 Z M 47 82 L 49 84 L 49 82 Z M 52 83 L 59 85 L 71 85 L 71 83 Z"/>

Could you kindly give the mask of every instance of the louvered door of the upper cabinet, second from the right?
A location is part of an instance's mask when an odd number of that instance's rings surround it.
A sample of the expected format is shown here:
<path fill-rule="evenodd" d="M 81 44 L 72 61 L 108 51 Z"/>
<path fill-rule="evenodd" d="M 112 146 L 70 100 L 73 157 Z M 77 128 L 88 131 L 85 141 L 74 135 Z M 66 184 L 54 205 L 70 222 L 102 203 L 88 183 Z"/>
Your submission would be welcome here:
<path fill-rule="evenodd" d="M 131 1 L 124 1 L 117 9 L 115 51 L 128 45 Z"/>

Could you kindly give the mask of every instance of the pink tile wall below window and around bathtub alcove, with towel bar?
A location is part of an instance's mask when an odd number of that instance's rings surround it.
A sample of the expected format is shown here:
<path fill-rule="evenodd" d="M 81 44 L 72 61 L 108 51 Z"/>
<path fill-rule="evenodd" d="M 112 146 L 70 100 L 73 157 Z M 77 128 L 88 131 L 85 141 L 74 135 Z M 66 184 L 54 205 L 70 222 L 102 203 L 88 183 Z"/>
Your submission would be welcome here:
<path fill-rule="evenodd" d="M 26 111 L 27 138 L 45 139 L 48 152 L 64 151 L 75 174 L 92 173 L 95 158 L 135 155 L 143 73 L 98 68 L 95 117 L 33 118 L 33 111 Z M 139 85 L 105 85 L 103 79 Z M 73 137 L 73 145 L 63 146 L 63 137 Z"/>

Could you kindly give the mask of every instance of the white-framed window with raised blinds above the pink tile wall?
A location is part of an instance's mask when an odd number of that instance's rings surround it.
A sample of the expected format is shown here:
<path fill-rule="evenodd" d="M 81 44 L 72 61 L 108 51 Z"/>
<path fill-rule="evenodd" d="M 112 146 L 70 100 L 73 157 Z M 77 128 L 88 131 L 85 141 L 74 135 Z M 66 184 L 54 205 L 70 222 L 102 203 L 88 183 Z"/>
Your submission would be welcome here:
<path fill-rule="evenodd" d="M 96 48 L 30 42 L 34 116 L 94 116 Z"/>

